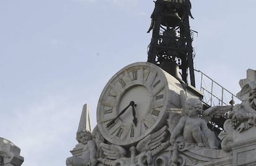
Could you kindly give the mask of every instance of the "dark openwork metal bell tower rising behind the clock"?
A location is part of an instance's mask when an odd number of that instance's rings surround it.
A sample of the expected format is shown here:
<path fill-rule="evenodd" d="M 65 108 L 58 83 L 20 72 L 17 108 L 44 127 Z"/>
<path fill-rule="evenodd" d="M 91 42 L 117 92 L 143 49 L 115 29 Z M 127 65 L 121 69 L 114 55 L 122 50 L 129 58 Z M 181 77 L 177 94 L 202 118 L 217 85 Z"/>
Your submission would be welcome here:
<path fill-rule="evenodd" d="M 192 31 L 189 27 L 191 3 L 189 0 L 156 0 L 151 14 L 153 30 L 148 46 L 148 60 L 159 65 L 177 79 L 195 86 Z"/>

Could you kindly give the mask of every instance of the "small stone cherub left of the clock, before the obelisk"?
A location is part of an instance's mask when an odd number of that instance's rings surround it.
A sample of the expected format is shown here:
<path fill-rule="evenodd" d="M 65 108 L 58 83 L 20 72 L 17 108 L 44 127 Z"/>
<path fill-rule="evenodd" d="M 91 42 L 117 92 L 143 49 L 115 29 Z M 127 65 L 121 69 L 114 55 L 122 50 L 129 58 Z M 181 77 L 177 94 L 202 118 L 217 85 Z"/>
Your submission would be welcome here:
<path fill-rule="evenodd" d="M 93 166 L 97 164 L 96 145 L 92 140 L 92 134 L 87 130 L 77 132 L 77 141 L 84 144 L 83 154 L 80 157 L 69 157 L 66 160 L 67 166 Z"/>

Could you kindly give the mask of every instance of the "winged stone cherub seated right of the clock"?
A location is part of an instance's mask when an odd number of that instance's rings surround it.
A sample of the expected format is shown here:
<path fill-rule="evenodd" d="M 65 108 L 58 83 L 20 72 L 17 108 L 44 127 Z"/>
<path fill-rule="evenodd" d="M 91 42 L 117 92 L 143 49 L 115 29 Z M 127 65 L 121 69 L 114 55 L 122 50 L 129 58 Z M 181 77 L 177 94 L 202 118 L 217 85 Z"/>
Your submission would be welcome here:
<path fill-rule="evenodd" d="M 231 106 L 214 106 L 203 112 L 202 101 L 195 98 L 184 98 L 181 91 L 183 114 L 171 133 L 170 143 L 174 144 L 179 135 L 183 136 L 185 144 L 197 144 L 198 147 L 218 149 L 220 141 L 215 133 L 207 127 L 207 122 L 213 117 L 220 117 L 231 110 Z M 184 101 L 186 99 L 186 101 Z M 202 116 L 201 116 L 202 115 Z"/>

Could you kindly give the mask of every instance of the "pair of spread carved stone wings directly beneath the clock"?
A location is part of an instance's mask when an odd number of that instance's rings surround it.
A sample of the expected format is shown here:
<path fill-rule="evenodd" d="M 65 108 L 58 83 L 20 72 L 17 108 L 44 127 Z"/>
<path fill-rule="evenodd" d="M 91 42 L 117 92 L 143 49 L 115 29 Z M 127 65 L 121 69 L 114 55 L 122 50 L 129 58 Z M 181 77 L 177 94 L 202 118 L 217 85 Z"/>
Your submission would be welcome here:
<path fill-rule="evenodd" d="M 168 136 L 167 127 L 143 138 L 137 146 L 131 146 L 129 151 L 122 146 L 114 144 L 101 143 L 101 147 L 105 154 L 105 159 L 98 159 L 104 165 L 154 165 L 153 157 L 159 154 L 163 149 L 168 147 L 169 142 L 166 141 Z M 137 155 L 139 152 L 139 155 Z M 130 157 L 129 157 L 130 154 Z"/>

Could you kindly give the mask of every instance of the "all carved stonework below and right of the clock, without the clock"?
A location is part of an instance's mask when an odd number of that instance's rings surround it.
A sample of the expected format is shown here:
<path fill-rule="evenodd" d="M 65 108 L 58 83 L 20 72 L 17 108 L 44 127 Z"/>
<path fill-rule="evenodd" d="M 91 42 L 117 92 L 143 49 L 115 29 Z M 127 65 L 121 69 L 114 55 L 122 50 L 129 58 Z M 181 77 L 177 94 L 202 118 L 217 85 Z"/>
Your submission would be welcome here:
<path fill-rule="evenodd" d="M 180 107 L 166 109 L 166 123 L 134 144 L 109 143 L 97 127 L 86 131 L 67 165 L 256 165 L 256 71 L 247 70 L 239 83 L 242 102 L 234 107 L 203 110 L 200 98 L 187 98 L 186 88 L 181 90 Z M 221 115 L 227 120 L 216 136 L 207 122 Z"/>

